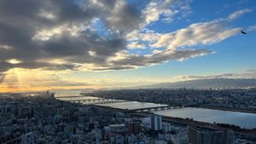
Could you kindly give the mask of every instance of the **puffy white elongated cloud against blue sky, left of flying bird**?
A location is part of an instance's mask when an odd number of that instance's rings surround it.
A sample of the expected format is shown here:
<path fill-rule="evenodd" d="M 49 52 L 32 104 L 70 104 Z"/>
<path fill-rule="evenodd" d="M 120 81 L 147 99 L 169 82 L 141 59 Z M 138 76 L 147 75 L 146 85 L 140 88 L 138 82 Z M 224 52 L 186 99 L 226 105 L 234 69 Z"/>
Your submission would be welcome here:
<path fill-rule="evenodd" d="M 162 35 L 151 46 L 175 50 L 179 47 L 218 43 L 240 32 L 241 28 L 229 28 L 224 25 L 224 22 L 223 20 L 212 20 L 205 23 L 195 23 L 176 32 Z"/>

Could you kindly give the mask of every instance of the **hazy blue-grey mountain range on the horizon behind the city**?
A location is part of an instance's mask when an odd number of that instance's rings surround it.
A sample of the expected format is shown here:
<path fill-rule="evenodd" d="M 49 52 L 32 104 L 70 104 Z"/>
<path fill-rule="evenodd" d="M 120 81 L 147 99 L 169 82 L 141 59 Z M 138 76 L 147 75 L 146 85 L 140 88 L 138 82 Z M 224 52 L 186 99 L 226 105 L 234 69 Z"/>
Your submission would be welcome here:
<path fill-rule="evenodd" d="M 213 78 L 213 79 L 196 79 L 174 83 L 151 84 L 137 87 L 137 89 L 228 89 L 228 88 L 256 88 L 255 78 Z"/>

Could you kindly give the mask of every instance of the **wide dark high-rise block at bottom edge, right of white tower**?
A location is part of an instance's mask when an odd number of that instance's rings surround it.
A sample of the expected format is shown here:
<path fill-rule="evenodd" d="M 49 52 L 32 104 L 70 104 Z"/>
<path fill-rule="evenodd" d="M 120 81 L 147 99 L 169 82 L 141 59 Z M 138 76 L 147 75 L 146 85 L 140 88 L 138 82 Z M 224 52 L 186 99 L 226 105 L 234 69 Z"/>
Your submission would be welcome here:
<path fill-rule="evenodd" d="M 233 144 L 234 133 L 230 130 L 213 130 L 188 126 L 189 144 Z"/>

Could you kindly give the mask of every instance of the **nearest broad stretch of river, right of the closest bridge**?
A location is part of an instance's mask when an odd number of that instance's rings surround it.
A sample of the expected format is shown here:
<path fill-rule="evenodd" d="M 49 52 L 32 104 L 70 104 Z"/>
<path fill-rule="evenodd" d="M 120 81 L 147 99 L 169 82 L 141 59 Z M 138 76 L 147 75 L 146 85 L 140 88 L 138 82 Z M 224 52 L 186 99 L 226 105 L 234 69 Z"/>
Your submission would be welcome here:
<path fill-rule="evenodd" d="M 230 112 L 204 108 L 185 107 L 154 112 L 156 114 L 177 117 L 193 118 L 196 121 L 220 124 L 235 124 L 241 128 L 256 128 L 256 114 L 245 112 Z"/>

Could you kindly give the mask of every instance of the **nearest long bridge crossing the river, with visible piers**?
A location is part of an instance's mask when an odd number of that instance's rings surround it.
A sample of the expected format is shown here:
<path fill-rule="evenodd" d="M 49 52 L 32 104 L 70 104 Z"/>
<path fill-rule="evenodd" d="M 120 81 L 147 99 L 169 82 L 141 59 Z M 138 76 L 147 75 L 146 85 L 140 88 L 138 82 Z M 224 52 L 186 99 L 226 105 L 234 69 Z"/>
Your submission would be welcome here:
<path fill-rule="evenodd" d="M 128 110 L 128 112 L 152 112 L 152 111 L 161 111 L 167 109 L 177 109 L 183 108 L 184 106 L 160 106 L 160 107 L 145 107 L 145 108 L 136 108 Z"/>

